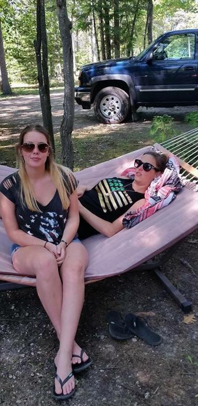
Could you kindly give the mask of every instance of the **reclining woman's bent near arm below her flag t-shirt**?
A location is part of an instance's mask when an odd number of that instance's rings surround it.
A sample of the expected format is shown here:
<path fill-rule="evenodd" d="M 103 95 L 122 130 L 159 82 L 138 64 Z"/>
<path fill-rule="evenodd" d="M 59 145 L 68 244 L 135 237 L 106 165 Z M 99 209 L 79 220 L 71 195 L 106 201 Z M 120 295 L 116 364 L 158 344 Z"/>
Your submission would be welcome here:
<path fill-rule="evenodd" d="M 131 208 L 127 210 L 126 213 L 128 213 L 131 210 L 139 209 L 144 205 L 144 203 L 145 199 L 140 199 L 136 201 L 134 205 L 132 205 Z M 83 207 L 80 202 L 78 205 L 79 205 L 79 213 L 83 217 L 83 219 L 85 219 L 87 223 L 89 223 L 93 228 L 95 228 L 95 230 L 105 235 L 106 237 L 112 237 L 116 233 L 118 233 L 118 231 L 121 231 L 124 228 L 122 225 L 122 220 L 126 213 L 120 216 L 118 219 L 116 219 L 113 223 L 110 223 L 109 221 L 100 219 L 100 217 L 91 213 L 89 210 Z"/>

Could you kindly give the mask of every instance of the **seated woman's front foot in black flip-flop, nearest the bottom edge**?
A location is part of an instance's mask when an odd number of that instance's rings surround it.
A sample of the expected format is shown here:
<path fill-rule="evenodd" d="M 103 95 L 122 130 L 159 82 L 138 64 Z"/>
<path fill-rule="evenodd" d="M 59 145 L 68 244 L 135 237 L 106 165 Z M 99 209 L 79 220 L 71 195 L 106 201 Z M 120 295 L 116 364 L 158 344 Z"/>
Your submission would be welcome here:
<path fill-rule="evenodd" d="M 71 359 L 67 357 L 62 357 L 60 359 L 59 353 L 55 358 L 55 365 L 57 366 L 57 375 L 61 378 L 62 381 L 72 372 L 72 362 Z M 69 394 L 75 388 L 75 379 L 74 375 L 61 387 L 60 382 L 55 378 L 55 392 L 57 394 Z"/>

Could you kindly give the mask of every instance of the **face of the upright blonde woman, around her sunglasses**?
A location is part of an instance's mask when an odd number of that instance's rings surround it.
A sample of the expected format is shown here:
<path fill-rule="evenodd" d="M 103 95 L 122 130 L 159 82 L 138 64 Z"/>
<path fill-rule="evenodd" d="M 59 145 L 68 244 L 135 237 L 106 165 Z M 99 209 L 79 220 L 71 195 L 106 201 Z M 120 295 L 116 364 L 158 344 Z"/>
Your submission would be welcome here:
<path fill-rule="evenodd" d="M 27 143 L 34 143 L 35 146 L 32 151 L 26 151 L 25 149 L 21 148 L 21 155 L 24 157 L 26 166 L 31 168 L 40 168 L 45 166 L 46 159 L 49 155 L 49 148 L 44 148 L 44 145 L 42 144 L 48 143 L 46 136 L 34 130 L 30 131 L 24 136 L 23 144 Z M 38 144 L 40 143 L 42 143 L 41 145 L 44 148 L 44 152 L 41 152 L 38 148 Z"/>

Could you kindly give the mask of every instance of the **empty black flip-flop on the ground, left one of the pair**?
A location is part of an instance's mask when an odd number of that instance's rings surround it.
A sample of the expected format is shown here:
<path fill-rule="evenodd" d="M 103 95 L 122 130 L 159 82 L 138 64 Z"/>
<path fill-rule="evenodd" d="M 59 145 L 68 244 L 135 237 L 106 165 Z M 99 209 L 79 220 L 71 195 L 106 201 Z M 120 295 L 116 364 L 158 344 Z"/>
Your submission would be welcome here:
<path fill-rule="evenodd" d="M 133 334 L 129 331 L 121 314 L 116 311 L 111 311 L 107 314 L 108 329 L 111 337 L 116 340 L 128 340 L 133 337 Z"/>

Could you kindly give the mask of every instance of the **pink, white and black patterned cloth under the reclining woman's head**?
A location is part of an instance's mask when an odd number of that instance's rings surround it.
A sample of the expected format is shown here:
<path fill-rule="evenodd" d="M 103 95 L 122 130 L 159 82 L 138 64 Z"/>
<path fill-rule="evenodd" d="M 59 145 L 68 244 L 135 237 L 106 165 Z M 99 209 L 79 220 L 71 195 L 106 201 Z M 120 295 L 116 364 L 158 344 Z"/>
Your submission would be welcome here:
<path fill-rule="evenodd" d="M 125 169 L 121 175 L 134 177 L 136 168 Z M 151 182 L 145 192 L 145 204 L 134 212 L 129 212 L 123 219 L 123 226 L 126 228 L 134 227 L 136 224 L 152 216 L 157 210 L 160 210 L 170 204 L 176 197 L 181 188 L 179 179 L 179 164 L 175 157 L 170 157 L 162 175 L 156 177 Z"/>

